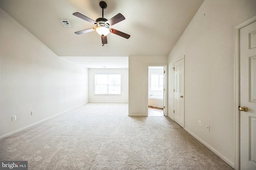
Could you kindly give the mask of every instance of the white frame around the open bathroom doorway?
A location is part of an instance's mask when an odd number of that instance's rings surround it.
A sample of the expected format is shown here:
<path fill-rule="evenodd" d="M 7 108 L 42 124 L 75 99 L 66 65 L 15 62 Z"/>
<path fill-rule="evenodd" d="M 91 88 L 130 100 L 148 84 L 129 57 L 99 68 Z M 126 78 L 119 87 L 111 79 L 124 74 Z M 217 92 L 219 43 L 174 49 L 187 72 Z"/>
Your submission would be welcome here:
<path fill-rule="evenodd" d="M 163 109 L 163 112 L 164 112 L 164 116 L 167 116 L 168 115 L 168 97 L 167 97 L 167 94 L 168 94 L 168 64 L 148 64 L 148 67 L 150 66 L 160 66 L 160 67 L 164 67 L 164 70 L 165 70 L 165 74 L 164 74 L 164 87 L 165 87 L 165 91 L 164 91 L 164 109 Z M 147 70 L 148 72 L 148 70 Z M 147 100 L 146 100 L 146 114 L 148 116 L 148 74 L 147 74 Z"/>

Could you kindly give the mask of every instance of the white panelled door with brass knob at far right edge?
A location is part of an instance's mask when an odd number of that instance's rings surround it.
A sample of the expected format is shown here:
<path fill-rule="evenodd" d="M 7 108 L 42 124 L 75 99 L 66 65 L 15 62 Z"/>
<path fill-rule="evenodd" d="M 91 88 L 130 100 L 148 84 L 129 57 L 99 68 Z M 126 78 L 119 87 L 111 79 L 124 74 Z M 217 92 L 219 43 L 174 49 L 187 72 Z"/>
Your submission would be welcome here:
<path fill-rule="evenodd" d="M 240 169 L 256 170 L 256 21 L 240 29 L 239 110 Z"/>

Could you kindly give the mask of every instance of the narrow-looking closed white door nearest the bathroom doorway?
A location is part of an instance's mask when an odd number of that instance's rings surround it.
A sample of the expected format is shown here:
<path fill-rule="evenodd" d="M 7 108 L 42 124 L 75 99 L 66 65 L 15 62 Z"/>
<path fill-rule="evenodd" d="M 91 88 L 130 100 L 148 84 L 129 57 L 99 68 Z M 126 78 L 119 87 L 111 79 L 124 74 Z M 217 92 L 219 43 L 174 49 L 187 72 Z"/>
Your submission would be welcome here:
<path fill-rule="evenodd" d="M 174 121 L 184 128 L 184 57 L 174 62 Z"/>

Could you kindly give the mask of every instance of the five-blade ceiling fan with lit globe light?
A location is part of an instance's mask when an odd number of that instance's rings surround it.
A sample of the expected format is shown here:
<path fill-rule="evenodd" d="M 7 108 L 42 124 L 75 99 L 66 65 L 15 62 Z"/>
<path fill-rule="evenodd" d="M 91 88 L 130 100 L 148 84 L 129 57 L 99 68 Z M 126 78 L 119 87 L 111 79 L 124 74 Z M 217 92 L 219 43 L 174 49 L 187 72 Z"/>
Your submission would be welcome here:
<path fill-rule="evenodd" d="M 102 18 L 98 18 L 96 21 L 88 18 L 87 16 L 84 16 L 83 14 L 80 14 L 79 12 L 75 12 L 73 15 L 81 18 L 83 20 L 86 20 L 90 23 L 93 23 L 96 25 L 96 27 L 93 28 L 89 28 L 89 29 L 84 29 L 82 31 L 77 31 L 75 32 L 76 34 L 80 35 L 83 33 L 88 33 L 91 31 L 96 31 L 100 36 L 101 36 L 101 41 L 102 41 L 102 46 L 104 46 L 104 44 L 107 44 L 107 35 L 108 33 L 114 33 L 116 35 L 119 35 L 121 37 L 124 37 L 126 39 L 130 38 L 130 35 L 123 33 L 121 31 L 118 31 L 116 29 L 110 28 L 112 25 L 125 20 L 124 16 L 122 14 L 117 14 L 116 16 L 112 17 L 111 19 L 107 20 L 106 18 L 104 18 L 103 14 L 104 14 L 104 9 L 107 8 L 107 4 L 104 1 L 100 2 L 100 8 L 102 8 Z"/>

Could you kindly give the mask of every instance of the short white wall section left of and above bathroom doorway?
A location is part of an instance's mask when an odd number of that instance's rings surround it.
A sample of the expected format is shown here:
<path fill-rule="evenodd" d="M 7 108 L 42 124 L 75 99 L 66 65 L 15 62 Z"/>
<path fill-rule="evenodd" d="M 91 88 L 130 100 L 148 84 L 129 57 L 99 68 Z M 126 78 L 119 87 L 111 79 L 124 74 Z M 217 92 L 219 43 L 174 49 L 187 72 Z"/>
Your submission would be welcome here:
<path fill-rule="evenodd" d="M 129 57 L 129 116 L 146 116 L 148 64 L 167 63 L 167 56 Z"/>

